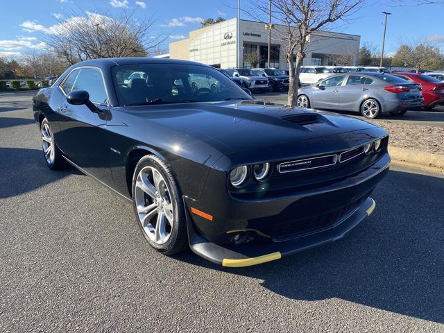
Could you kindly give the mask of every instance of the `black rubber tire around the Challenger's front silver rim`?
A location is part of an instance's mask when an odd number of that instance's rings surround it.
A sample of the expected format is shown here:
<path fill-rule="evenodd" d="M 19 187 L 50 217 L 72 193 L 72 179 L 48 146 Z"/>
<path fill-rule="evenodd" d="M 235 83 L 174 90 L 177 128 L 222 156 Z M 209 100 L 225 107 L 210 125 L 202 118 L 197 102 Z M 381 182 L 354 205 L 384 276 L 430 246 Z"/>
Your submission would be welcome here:
<path fill-rule="evenodd" d="M 146 167 L 151 167 L 156 169 L 163 177 L 163 179 L 167 182 L 167 189 L 169 193 L 169 197 L 171 198 L 171 203 L 173 205 L 173 225 L 170 227 L 169 239 L 164 244 L 156 244 L 144 229 L 142 222 L 139 218 L 139 212 L 137 211 L 136 204 L 136 182 L 137 176 L 139 176 L 140 171 L 142 171 Z M 188 246 L 188 236 L 187 236 L 187 221 L 185 218 L 185 207 L 182 201 L 182 191 L 180 191 L 180 187 L 178 186 L 178 182 L 176 178 L 173 176 L 171 172 L 171 167 L 167 165 L 166 162 L 161 160 L 156 155 L 146 155 L 142 157 L 135 167 L 133 173 L 133 208 L 135 212 L 135 216 L 137 219 L 137 224 L 139 225 L 142 234 L 144 235 L 148 244 L 150 244 L 155 250 L 163 253 L 164 255 L 173 255 L 174 253 L 180 253 L 183 250 L 187 249 Z M 149 200 L 149 196 L 146 196 Z M 149 202 L 148 202 L 149 203 Z M 148 204 L 147 203 L 147 204 Z M 158 211 L 157 211 L 158 212 Z"/>

